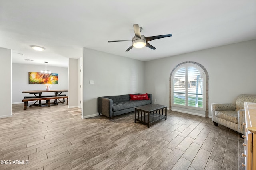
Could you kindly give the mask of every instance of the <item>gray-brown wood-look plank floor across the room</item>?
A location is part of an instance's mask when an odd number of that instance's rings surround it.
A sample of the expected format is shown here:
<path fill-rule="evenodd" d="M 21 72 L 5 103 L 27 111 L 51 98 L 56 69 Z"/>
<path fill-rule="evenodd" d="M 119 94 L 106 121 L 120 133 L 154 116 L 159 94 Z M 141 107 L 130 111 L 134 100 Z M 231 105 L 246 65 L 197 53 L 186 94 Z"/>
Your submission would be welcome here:
<path fill-rule="evenodd" d="M 81 119 L 66 104 L 12 113 L 0 119 L 0 170 L 244 170 L 243 139 L 209 118 L 168 111 L 147 128 L 134 113 Z"/>

